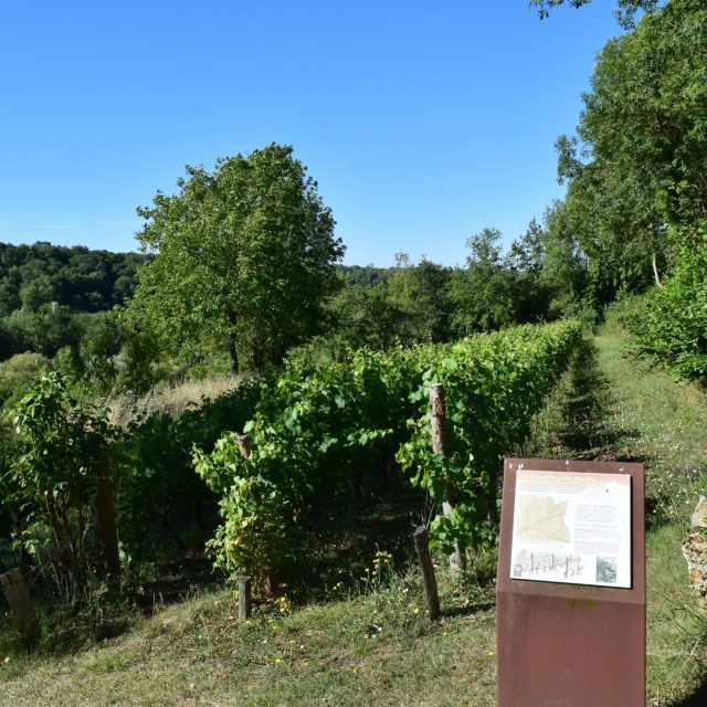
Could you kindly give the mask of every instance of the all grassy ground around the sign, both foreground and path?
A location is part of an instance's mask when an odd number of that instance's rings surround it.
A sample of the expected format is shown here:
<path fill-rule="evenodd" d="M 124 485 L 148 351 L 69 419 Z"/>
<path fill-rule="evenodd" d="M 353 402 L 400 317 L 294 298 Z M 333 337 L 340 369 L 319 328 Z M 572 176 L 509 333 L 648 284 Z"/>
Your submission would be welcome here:
<path fill-rule="evenodd" d="M 646 463 L 648 705 L 707 704 L 707 620 L 687 585 L 679 542 L 707 479 L 707 402 L 622 356 L 605 328 L 535 424 L 530 456 Z M 460 585 L 441 572 L 443 620 L 424 618 L 416 573 L 370 558 L 359 591 L 240 626 L 226 591 L 139 621 L 67 656 L 21 658 L 0 635 L 0 705 L 495 705 L 493 556 Z M 339 590 L 340 591 L 340 590 Z"/>

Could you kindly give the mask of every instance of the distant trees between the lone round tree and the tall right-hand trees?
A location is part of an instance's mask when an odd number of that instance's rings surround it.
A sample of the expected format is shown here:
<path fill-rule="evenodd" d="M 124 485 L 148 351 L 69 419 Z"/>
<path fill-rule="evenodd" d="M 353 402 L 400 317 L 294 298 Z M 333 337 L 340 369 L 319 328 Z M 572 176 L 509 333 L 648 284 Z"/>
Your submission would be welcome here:
<path fill-rule="evenodd" d="M 505 253 L 502 233 L 484 229 L 468 239 L 464 267 L 412 263 L 405 253 L 388 270 L 344 267 L 345 286 L 330 304 L 334 330 L 317 345 L 386 350 L 581 312 L 594 316 L 584 299 L 587 258 L 561 226 L 553 207 Z"/>

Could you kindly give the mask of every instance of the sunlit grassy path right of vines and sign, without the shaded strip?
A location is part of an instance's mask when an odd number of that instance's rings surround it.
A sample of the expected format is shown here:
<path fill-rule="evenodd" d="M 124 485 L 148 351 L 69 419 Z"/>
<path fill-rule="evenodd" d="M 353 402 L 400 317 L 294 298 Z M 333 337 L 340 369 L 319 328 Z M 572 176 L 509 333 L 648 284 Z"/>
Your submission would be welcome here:
<path fill-rule="evenodd" d="M 615 328 L 605 327 L 597 345 L 614 397 L 608 425 L 616 432 L 616 455 L 646 465 L 648 704 L 705 705 L 707 615 L 687 587 L 680 541 L 707 493 L 707 400 L 696 387 L 622 356 Z"/>

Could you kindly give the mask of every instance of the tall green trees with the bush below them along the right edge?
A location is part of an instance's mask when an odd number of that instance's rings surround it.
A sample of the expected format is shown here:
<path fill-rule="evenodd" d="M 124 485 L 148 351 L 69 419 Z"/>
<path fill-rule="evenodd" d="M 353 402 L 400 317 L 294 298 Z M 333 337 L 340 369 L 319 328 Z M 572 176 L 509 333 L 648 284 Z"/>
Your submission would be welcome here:
<path fill-rule="evenodd" d="M 560 210 L 598 304 L 648 291 L 626 317 L 640 349 L 704 380 L 707 7 L 620 3 L 636 7 L 646 14 L 598 56 L 576 135 L 557 141 Z"/>

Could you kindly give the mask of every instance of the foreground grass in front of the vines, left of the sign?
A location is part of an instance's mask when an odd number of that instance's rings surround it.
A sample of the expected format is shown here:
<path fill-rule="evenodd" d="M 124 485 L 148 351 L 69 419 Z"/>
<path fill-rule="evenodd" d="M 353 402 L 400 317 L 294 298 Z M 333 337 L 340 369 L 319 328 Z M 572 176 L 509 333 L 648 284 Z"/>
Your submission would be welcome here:
<path fill-rule="evenodd" d="M 249 625 L 236 623 L 228 591 L 193 598 L 72 656 L 13 656 L 0 668 L 0 701 L 490 706 L 493 591 L 441 579 L 447 613 L 434 624 L 414 573 L 287 615 L 274 606 Z"/>

